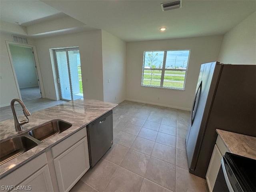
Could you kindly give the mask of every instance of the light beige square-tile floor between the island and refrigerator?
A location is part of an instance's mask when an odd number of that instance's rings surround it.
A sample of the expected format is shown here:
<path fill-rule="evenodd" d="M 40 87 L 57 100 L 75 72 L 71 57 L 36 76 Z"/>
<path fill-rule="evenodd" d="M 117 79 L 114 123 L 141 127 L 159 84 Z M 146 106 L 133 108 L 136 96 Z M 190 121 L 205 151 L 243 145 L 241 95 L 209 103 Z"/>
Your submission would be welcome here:
<path fill-rule="evenodd" d="M 114 144 L 72 192 L 208 191 L 188 172 L 190 112 L 124 101 L 113 111 Z"/>

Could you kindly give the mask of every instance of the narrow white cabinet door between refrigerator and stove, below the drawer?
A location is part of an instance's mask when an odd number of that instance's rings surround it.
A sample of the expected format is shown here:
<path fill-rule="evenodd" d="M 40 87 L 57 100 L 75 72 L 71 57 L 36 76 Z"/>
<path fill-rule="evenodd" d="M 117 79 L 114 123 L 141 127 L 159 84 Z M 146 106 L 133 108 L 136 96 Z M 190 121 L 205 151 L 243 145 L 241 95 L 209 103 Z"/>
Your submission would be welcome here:
<path fill-rule="evenodd" d="M 210 164 L 208 166 L 208 170 L 206 173 L 206 182 L 208 184 L 209 191 L 212 192 L 219 169 L 221 165 L 221 158 L 222 154 L 218 148 L 218 146 L 215 144 L 212 157 L 210 160 Z"/>

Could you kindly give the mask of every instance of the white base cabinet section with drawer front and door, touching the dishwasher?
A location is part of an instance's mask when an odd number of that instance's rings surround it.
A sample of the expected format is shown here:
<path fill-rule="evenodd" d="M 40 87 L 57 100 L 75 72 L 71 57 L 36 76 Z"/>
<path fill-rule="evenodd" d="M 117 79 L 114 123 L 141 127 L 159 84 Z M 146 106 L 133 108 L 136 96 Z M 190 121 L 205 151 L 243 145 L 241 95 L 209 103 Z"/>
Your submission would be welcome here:
<path fill-rule="evenodd" d="M 54 146 L 52 154 L 59 190 L 69 191 L 90 168 L 86 128 Z"/>

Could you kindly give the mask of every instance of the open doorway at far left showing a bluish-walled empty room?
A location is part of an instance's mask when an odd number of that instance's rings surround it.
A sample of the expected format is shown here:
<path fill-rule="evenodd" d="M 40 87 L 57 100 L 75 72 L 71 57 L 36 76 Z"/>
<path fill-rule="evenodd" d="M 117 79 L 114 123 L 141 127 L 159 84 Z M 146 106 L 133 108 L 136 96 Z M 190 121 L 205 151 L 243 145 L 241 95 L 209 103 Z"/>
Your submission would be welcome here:
<path fill-rule="evenodd" d="M 42 98 L 33 48 L 18 44 L 9 48 L 22 101 Z"/>

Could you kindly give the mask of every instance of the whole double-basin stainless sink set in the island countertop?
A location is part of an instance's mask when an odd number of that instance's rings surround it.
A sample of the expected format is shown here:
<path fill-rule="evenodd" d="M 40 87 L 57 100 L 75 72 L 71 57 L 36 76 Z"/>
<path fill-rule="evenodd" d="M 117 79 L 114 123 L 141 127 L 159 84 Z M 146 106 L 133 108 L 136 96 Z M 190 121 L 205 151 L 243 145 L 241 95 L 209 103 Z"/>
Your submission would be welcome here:
<path fill-rule="evenodd" d="M 72 124 L 56 119 L 0 142 L 0 165 L 67 130 Z"/>

